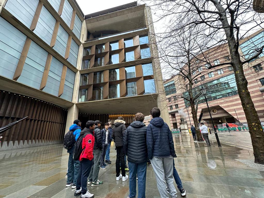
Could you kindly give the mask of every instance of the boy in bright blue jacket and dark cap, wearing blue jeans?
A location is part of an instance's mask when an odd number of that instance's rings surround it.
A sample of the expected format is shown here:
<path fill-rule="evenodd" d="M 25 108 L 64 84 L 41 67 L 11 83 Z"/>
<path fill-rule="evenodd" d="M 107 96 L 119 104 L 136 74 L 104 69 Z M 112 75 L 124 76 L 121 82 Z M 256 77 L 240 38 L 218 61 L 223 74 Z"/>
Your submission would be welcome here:
<path fill-rule="evenodd" d="M 75 141 L 80 136 L 81 124 L 82 122 L 80 122 L 80 120 L 74 120 L 73 125 L 71 125 L 69 128 L 70 131 L 73 131 L 73 136 L 75 137 Z M 80 161 L 73 160 L 73 149 L 74 147 L 67 150 L 67 153 L 69 153 L 69 160 L 68 160 L 68 179 L 67 179 L 66 187 L 72 185 L 72 188 L 76 188 L 77 176 L 80 170 Z"/>

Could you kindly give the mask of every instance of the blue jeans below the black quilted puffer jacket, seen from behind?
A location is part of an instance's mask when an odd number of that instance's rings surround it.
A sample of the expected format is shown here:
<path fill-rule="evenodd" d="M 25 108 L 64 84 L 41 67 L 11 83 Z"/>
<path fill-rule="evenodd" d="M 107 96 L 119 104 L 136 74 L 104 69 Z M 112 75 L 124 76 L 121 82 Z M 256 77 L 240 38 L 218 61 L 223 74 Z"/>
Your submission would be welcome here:
<path fill-rule="evenodd" d="M 129 197 L 136 197 L 136 175 L 138 175 L 138 198 L 145 198 L 147 163 L 128 162 L 129 167 Z"/>

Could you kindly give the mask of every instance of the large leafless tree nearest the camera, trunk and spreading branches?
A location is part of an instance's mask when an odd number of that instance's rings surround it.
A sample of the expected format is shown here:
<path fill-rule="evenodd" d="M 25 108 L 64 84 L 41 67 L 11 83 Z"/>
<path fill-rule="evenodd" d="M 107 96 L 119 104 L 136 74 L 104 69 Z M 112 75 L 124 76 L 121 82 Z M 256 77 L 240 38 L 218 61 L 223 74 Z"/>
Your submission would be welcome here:
<path fill-rule="evenodd" d="M 152 6 L 154 13 L 159 15 L 158 20 L 166 19 L 167 26 L 170 27 L 156 34 L 159 41 L 167 39 L 168 31 L 171 31 L 171 37 L 174 37 L 181 30 L 186 31 L 190 27 L 202 25 L 203 29 L 200 29 L 199 35 L 210 38 L 208 43 L 201 43 L 203 49 L 204 46 L 208 49 L 223 44 L 228 46 L 231 57 L 229 62 L 211 64 L 208 59 L 197 58 L 208 62 L 209 69 L 223 65 L 233 67 L 238 94 L 251 135 L 255 163 L 264 164 L 264 133 L 248 91 L 243 68 L 263 53 L 264 45 L 254 45 L 246 56 L 239 48 L 244 37 L 252 31 L 263 29 L 264 14 L 253 10 L 253 0 L 146 0 L 144 2 Z"/>

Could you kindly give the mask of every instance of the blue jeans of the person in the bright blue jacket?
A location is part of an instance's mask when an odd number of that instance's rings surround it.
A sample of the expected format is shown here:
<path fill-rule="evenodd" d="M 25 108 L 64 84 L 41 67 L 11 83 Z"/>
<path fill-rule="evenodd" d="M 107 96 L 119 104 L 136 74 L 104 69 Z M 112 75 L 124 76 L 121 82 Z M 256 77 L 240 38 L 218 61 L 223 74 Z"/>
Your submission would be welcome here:
<path fill-rule="evenodd" d="M 79 170 L 80 170 L 80 161 L 79 160 L 76 160 L 76 161 L 73 160 L 73 153 L 69 153 L 67 183 L 76 184 Z"/>

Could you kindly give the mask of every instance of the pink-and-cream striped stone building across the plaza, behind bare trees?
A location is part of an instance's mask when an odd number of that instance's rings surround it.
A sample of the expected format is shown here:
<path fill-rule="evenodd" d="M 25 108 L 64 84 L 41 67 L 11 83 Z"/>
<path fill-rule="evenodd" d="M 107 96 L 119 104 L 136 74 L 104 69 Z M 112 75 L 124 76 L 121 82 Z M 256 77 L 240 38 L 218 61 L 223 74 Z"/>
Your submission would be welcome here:
<path fill-rule="evenodd" d="M 243 39 L 240 43 L 240 52 L 242 58 L 249 58 L 256 53 L 256 48 L 261 47 L 263 41 L 264 31 L 258 31 L 251 36 Z M 257 46 L 257 47 L 256 47 Z M 212 52 L 212 53 L 211 53 Z M 206 54 L 206 52 L 204 52 Z M 228 46 L 215 47 L 210 49 L 212 55 L 209 57 L 209 61 L 212 65 L 225 63 L 230 60 Z M 206 65 L 201 62 L 195 62 L 194 64 L 200 64 L 197 71 L 197 81 L 194 81 L 193 94 L 200 93 L 201 86 L 207 87 L 206 96 L 210 111 L 214 120 L 214 124 L 222 123 L 236 123 L 246 122 L 246 117 L 241 105 L 241 100 L 238 95 L 237 85 L 235 82 L 233 68 L 224 65 L 214 69 L 205 69 Z M 203 65 L 202 65 L 203 64 Z M 197 65 L 195 65 L 197 68 Z M 244 65 L 244 73 L 248 81 L 248 89 L 251 94 L 251 98 L 254 102 L 254 106 L 257 110 L 258 116 L 261 121 L 264 122 L 264 53 L 258 58 Z M 170 117 L 171 128 L 179 128 L 180 117 L 183 116 L 187 121 L 190 128 L 190 122 L 193 123 L 191 110 L 186 108 L 189 106 L 188 101 L 179 98 L 179 96 L 188 96 L 187 88 L 181 89 L 179 84 L 187 86 L 188 81 L 181 79 L 178 81 L 178 76 L 168 79 L 164 82 L 165 93 L 167 97 L 168 111 Z M 212 126 L 208 108 L 206 106 L 204 96 L 198 98 L 198 111 L 197 118 L 200 122 L 208 123 Z M 189 120 L 189 116 L 190 120 Z"/>

